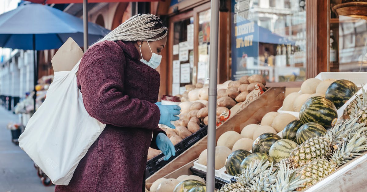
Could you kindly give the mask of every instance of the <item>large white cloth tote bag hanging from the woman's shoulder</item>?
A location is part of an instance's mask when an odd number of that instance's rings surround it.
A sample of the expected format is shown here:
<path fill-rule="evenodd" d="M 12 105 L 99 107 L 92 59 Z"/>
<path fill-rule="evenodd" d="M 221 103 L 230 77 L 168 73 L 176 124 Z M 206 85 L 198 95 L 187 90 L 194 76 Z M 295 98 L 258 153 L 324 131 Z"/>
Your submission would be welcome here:
<path fill-rule="evenodd" d="M 86 111 L 76 72 L 55 72 L 43 104 L 19 137 L 19 146 L 57 185 L 68 185 L 80 160 L 105 128 Z"/>

